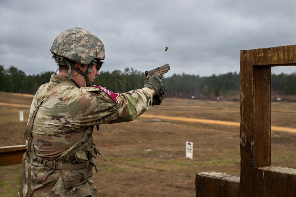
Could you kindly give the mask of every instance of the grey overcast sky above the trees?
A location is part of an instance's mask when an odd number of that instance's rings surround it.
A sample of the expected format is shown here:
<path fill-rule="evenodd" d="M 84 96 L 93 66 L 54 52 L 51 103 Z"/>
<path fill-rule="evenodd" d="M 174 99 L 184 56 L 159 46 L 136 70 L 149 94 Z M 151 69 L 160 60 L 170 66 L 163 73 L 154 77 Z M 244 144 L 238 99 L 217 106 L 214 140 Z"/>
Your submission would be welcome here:
<path fill-rule="evenodd" d="M 296 0 L 0 0 L 0 19 L 0 64 L 27 75 L 57 69 L 49 49 L 73 27 L 102 40 L 110 72 L 164 64 L 166 76 L 239 72 L 240 50 L 296 44 Z"/>

